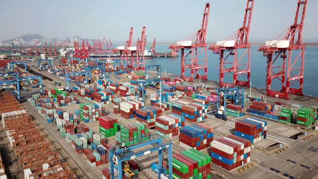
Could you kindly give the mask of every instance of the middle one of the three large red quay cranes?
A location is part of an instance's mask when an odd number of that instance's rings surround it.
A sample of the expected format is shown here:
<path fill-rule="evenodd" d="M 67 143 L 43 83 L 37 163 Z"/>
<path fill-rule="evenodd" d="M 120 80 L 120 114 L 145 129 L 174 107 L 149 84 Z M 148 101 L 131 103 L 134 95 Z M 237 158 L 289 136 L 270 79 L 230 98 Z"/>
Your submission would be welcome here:
<path fill-rule="evenodd" d="M 216 45 L 210 45 L 209 47 L 209 50 L 212 50 L 214 54 L 220 55 L 220 87 L 233 87 L 235 85 L 250 87 L 249 35 L 253 5 L 254 0 L 247 0 L 243 26 L 241 28 L 227 36 L 224 40 L 216 42 Z M 238 49 L 242 49 L 239 50 L 242 53 L 238 53 Z M 233 74 L 233 83 L 224 82 L 224 77 L 228 73 Z M 244 79 L 245 77 L 247 77 L 246 81 L 238 79 Z"/>

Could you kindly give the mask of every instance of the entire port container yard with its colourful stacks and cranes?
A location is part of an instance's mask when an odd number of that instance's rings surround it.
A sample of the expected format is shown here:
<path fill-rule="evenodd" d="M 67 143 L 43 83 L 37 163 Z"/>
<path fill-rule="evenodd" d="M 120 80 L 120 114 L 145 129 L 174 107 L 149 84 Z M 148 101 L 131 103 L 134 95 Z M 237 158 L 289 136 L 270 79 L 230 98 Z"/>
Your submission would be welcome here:
<path fill-rule="evenodd" d="M 118 46 L 83 39 L 68 52 L 45 42 L 22 50 L 33 60 L 0 60 L 0 179 L 318 179 L 318 98 L 302 92 L 304 63 L 294 67 L 305 60 L 307 0 L 293 1 L 295 23 L 258 49 L 266 89 L 250 82 L 254 0 L 243 26 L 212 45 L 206 3 L 200 29 L 171 52 L 156 51 L 156 38 L 147 50 L 143 26 L 136 43 L 132 27 Z M 208 79 L 211 51 L 219 81 Z M 181 74 L 145 62 L 166 57 Z"/>

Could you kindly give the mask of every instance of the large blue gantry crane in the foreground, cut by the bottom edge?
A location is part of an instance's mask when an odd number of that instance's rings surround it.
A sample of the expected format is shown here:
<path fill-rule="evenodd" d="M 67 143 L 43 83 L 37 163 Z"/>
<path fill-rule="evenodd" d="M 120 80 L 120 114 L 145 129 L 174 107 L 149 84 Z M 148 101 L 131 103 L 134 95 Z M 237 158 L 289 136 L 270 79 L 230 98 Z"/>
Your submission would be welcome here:
<path fill-rule="evenodd" d="M 140 151 L 134 151 L 136 149 L 142 149 Z M 123 176 L 123 162 L 140 157 L 143 155 L 151 154 L 158 151 L 159 157 L 159 173 L 158 179 L 161 179 L 161 174 L 163 174 L 164 170 L 162 168 L 162 150 L 168 150 L 168 167 L 169 167 L 169 179 L 172 179 L 172 142 L 169 140 L 168 142 L 162 142 L 162 138 L 157 135 L 151 135 L 150 139 L 147 141 L 142 141 L 140 143 L 128 146 L 128 147 L 120 147 L 114 146 L 109 149 L 109 161 L 110 161 L 110 172 L 111 179 L 114 178 L 114 169 L 118 171 L 118 179 L 122 179 Z"/>

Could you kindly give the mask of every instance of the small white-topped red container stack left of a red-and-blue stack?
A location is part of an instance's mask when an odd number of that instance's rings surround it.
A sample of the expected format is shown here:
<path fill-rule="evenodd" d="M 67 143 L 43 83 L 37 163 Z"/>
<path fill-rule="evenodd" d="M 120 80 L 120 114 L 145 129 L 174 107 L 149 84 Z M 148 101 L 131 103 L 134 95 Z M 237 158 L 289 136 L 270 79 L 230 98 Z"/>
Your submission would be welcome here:
<path fill-rule="evenodd" d="M 120 103 L 120 116 L 125 119 L 136 117 L 136 110 L 144 107 L 144 103 L 140 101 L 127 101 Z"/>

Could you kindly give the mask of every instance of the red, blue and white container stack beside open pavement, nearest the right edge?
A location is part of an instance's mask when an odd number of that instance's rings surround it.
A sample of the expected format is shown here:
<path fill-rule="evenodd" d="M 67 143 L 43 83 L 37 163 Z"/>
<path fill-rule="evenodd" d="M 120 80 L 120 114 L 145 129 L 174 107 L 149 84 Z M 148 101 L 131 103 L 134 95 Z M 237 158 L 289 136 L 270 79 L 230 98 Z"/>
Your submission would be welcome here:
<path fill-rule="evenodd" d="M 256 118 L 246 118 L 235 122 L 235 135 L 245 138 L 251 144 L 266 138 L 267 121 Z"/>

